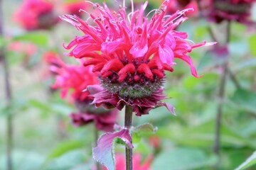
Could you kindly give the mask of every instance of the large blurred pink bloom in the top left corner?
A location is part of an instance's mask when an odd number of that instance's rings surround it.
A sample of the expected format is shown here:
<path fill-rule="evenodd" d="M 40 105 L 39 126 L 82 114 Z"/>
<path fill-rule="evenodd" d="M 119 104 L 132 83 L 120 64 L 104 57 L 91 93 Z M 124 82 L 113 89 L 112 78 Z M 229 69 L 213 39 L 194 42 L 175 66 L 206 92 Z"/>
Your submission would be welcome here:
<path fill-rule="evenodd" d="M 26 30 L 48 29 L 58 22 L 53 9 L 50 0 L 24 0 L 14 13 L 14 20 Z"/>

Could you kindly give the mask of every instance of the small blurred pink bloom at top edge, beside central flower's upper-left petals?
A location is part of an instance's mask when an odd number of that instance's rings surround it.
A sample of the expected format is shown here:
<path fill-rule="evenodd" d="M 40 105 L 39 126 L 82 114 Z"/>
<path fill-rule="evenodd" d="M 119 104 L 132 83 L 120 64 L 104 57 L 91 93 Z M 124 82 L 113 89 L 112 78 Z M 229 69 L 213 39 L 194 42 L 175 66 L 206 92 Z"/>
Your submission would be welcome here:
<path fill-rule="evenodd" d="M 68 1 L 63 4 L 63 10 L 69 14 L 75 14 L 76 16 L 82 16 L 80 9 L 85 10 L 87 3 L 85 1 Z"/>

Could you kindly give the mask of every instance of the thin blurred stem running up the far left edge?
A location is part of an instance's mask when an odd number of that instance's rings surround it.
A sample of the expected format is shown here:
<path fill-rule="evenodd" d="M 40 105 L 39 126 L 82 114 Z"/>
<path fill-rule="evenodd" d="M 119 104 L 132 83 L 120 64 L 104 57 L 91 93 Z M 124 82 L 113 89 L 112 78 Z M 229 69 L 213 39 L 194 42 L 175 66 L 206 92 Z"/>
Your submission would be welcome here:
<path fill-rule="evenodd" d="M 0 0 L 0 35 L 4 37 L 4 13 L 3 13 L 3 0 Z M 5 86 L 5 96 L 6 105 L 11 108 L 11 84 L 9 81 L 9 65 L 6 60 L 4 48 L 0 49 L 0 60 L 4 64 L 4 86 Z M 6 117 L 6 167 L 8 170 L 12 169 L 12 148 L 13 148 L 13 124 L 12 115 L 9 113 Z"/>

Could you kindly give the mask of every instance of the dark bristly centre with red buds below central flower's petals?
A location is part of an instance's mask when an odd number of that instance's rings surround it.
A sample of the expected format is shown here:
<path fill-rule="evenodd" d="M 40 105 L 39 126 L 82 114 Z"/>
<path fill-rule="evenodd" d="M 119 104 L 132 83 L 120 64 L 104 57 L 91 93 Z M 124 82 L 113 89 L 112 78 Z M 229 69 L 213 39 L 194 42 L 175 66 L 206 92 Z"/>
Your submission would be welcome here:
<path fill-rule="evenodd" d="M 151 96 L 154 91 L 159 90 L 164 81 L 156 70 L 152 69 L 145 63 L 126 64 L 119 72 L 112 71 L 108 77 L 102 77 L 102 86 L 112 94 L 118 94 L 122 98 L 144 98 Z"/>

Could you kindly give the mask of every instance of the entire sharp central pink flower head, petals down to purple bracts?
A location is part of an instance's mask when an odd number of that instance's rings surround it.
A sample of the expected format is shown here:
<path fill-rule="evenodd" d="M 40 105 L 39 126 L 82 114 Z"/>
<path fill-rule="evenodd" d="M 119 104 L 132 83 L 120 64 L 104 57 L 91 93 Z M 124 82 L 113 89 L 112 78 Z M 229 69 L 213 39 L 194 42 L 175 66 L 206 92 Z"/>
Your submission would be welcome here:
<path fill-rule="evenodd" d="M 92 4 L 92 3 L 91 3 Z M 166 106 L 160 100 L 164 71 L 173 72 L 174 58 L 187 62 L 191 73 L 198 76 L 188 53 L 195 47 L 210 45 L 187 40 L 187 33 L 175 28 L 186 21 L 183 14 L 192 9 L 165 15 L 169 1 L 144 16 L 147 1 L 127 15 L 125 6 L 110 11 L 106 4 L 92 4 L 100 16 L 90 13 L 95 22 L 91 26 L 78 16 L 61 18 L 85 34 L 75 37 L 65 48 L 73 48 L 68 55 L 87 58 L 84 65 L 93 65 L 99 72 L 100 86 L 89 88 L 97 106 L 133 107 L 137 115 L 148 113 L 156 106 Z M 149 16 L 151 16 L 149 18 Z"/>

